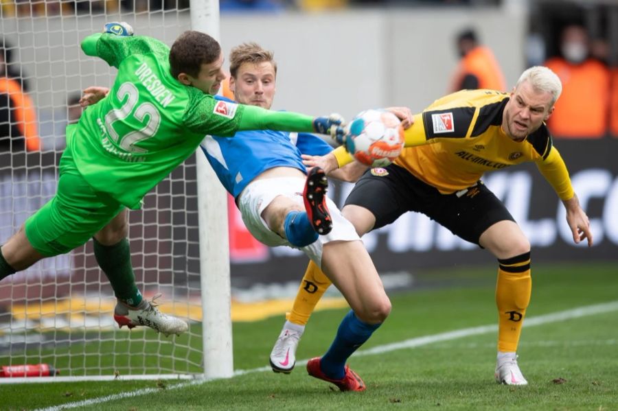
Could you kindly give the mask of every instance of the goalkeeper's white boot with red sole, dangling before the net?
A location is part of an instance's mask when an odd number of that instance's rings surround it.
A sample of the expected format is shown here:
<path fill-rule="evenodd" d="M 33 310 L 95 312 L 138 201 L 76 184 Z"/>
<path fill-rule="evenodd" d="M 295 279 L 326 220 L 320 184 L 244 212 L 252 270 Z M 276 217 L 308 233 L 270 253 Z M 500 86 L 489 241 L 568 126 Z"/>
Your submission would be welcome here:
<path fill-rule="evenodd" d="M 168 316 L 157 309 L 156 300 L 160 296 L 161 294 L 155 295 L 151 301 L 146 301 L 146 298 L 144 298 L 137 307 L 130 307 L 118 301 L 114 309 L 114 320 L 120 328 L 123 325 L 130 329 L 137 325 L 145 325 L 154 329 L 157 333 L 165 334 L 166 337 L 170 334 L 180 336 L 181 333 L 189 329 L 189 326 L 180 318 Z"/>

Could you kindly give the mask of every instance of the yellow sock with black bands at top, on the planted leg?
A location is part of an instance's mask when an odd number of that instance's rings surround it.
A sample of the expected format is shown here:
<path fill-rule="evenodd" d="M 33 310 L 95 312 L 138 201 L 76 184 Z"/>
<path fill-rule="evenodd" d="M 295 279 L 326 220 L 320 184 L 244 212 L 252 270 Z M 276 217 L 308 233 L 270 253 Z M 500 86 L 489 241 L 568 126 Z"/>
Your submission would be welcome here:
<path fill-rule="evenodd" d="M 498 262 L 498 351 L 515 352 L 532 292 L 530 253 Z"/>

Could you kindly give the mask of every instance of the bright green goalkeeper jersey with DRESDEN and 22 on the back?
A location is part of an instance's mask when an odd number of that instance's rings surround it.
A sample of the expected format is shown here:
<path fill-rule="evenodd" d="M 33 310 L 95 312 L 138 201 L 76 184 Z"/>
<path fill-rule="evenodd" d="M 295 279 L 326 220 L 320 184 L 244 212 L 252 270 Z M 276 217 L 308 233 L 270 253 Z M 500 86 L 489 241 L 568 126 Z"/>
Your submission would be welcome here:
<path fill-rule="evenodd" d="M 170 74 L 170 49 L 146 36 L 93 34 L 82 41 L 118 73 L 111 91 L 67 128 L 67 148 L 94 189 L 130 209 L 198 147 L 231 136 L 244 106 L 217 101 Z"/>

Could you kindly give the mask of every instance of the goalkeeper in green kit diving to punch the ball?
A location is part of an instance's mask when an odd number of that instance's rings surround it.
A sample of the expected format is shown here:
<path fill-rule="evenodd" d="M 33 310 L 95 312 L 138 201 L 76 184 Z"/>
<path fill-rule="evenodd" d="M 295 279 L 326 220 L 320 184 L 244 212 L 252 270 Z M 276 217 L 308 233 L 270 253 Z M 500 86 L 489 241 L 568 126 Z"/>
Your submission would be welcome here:
<path fill-rule="evenodd" d="M 186 322 L 159 312 L 137 289 L 126 209 L 139 209 L 146 193 L 207 134 L 282 130 L 336 135 L 343 134 L 341 119 L 214 99 L 225 80 L 223 54 L 217 41 L 201 32 L 181 34 L 170 49 L 154 38 L 133 36 L 126 23 L 107 23 L 103 33 L 82 41 L 82 49 L 116 67 L 115 82 L 78 124 L 67 127 L 56 196 L 1 246 L 0 281 L 93 237 L 95 258 L 118 299 L 114 318 L 119 326 L 183 333 Z"/>

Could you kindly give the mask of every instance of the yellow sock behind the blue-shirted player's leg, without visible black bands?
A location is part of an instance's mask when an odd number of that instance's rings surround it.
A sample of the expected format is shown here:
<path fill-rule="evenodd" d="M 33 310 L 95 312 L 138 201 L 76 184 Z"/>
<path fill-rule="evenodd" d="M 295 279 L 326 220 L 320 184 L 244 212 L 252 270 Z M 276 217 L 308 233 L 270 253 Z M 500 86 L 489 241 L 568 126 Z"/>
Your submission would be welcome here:
<path fill-rule="evenodd" d="M 286 319 L 297 325 L 306 325 L 315 305 L 332 284 L 328 277 L 313 261 L 310 261 L 303 281 L 292 306 L 292 312 L 286 313 Z"/>

